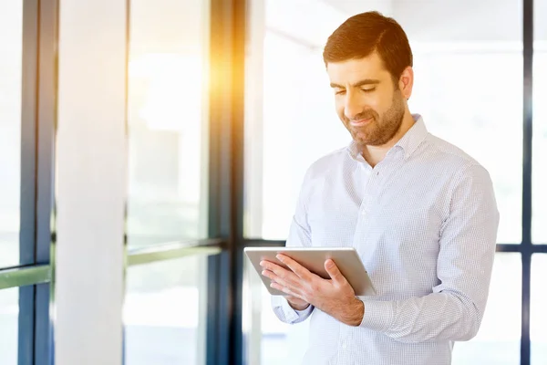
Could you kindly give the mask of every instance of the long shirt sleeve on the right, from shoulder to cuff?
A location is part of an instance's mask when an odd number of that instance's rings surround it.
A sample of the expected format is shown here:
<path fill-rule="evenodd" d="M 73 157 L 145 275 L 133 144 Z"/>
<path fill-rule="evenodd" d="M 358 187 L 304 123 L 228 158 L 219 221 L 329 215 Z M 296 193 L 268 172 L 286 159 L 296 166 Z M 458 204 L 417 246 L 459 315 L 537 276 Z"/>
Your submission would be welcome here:
<path fill-rule="evenodd" d="M 362 298 L 360 324 L 402 342 L 468 340 L 486 307 L 500 215 L 489 173 L 469 166 L 455 178 L 449 217 L 439 239 L 440 284 L 425 297 Z"/>

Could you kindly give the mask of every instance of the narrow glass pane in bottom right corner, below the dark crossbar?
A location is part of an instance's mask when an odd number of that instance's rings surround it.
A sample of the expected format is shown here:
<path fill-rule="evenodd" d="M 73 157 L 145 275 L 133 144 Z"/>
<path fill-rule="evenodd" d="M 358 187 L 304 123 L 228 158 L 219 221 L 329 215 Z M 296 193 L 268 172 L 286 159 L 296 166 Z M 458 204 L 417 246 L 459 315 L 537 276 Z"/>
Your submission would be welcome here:
<path fill-rule="evenodd" d="M 532 255 L 532 293 L 530 302 L 531 363 L 540 365 L 547 359 L 547 255 Z"/>

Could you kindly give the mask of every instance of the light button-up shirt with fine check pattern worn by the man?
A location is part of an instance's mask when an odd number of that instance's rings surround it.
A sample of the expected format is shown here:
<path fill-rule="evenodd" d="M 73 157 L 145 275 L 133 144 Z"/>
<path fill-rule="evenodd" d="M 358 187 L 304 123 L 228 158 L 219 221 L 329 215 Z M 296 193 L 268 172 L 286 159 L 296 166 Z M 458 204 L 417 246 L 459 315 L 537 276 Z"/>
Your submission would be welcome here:
<path fill-rule="evenodd" d="M 415 124 L 372 168 L 352 142 L 304 177 L 287 246 L 353 246 L 374 286 L 346 326 L 273 297 L 286 323 L 311 316 L 303 364 L 445 365 L 486 306 L 499 213 L 489 173 Z"/>

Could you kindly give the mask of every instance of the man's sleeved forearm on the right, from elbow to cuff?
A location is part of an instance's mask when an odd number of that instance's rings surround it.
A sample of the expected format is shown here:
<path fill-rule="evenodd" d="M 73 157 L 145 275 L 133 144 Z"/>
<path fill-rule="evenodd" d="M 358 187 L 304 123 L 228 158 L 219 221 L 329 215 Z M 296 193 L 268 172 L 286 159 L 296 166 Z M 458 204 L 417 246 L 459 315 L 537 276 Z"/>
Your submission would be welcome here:
<path fill-rule="evenodd" d="M 401 342 L 468 340 L 480 327 L 482 310 L 469 298 L 444 291 L 407 300 L 364 300 L 360 327 Z"/>

